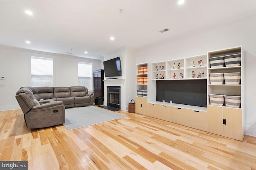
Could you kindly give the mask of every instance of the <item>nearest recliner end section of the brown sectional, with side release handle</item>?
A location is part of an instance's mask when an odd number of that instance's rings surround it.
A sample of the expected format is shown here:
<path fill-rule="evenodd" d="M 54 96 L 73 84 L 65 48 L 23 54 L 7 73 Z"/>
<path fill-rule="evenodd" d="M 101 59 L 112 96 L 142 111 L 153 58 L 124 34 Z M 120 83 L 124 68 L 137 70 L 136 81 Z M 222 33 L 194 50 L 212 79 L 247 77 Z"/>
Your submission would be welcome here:
<path fill-rule="evenodd" d="M 40 105 L 34 98 L 33 89 L 27 87 L 20 88 L 15 97 L 24 113 L 28 128 L 36 129 L 65 123 L 65 106 L 62 101 L 48 101 Z"/>

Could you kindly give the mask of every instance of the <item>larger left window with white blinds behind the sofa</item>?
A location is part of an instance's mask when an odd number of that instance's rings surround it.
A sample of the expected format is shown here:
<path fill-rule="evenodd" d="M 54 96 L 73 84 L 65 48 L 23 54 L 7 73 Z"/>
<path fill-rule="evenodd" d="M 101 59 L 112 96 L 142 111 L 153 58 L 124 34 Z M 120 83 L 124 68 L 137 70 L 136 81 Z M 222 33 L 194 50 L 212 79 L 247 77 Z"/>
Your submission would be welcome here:
<path fill-rule="evenodd" d="M 31 57 L 31 86 L 53 86 L 53 59 Z"/>

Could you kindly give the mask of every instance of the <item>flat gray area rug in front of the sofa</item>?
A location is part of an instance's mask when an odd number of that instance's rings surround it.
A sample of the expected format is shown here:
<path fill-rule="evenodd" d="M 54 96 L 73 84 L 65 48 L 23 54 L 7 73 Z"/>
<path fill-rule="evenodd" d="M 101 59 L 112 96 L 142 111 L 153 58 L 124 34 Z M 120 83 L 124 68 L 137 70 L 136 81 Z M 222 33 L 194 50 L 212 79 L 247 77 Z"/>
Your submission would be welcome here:
<path fill-rule="evenodd" d="M 65 117 L 63 125 L 70 131 L 125 116 L 95 106 L 85 106 L 65 109 Z"/>

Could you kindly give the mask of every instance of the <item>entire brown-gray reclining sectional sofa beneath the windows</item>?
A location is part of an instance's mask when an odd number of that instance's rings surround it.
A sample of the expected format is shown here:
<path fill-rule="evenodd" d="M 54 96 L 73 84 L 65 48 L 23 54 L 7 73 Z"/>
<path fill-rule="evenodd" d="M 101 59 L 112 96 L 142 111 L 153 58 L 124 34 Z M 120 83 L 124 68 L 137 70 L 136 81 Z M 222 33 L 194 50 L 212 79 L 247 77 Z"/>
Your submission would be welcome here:
<path fill-rule="evenodd" d="M 22 87 L 16 99 L 26 126 L 30 129 L 50 127 L 65 123 L 65 107 L 93 104 L 94 96 L 82 86 L 73 87 Z"/>

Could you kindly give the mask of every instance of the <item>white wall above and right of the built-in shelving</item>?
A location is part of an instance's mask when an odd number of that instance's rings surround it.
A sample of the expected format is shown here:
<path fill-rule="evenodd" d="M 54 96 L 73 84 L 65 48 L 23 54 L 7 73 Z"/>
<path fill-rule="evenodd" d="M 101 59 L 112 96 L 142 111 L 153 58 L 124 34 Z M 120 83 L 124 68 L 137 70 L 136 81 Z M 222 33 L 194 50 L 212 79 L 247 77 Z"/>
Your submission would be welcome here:
<path fill-rule="evenodd" d="M 245 127 L 256 136 L 256 16 L 165 39 L 136 50 L 136 63 L 168 61 L 242 45 L 245 50 Z M 171 30 L 170 30 L 171 31 Z M 150 92 L 149 92 L 150 93 Z"/>

